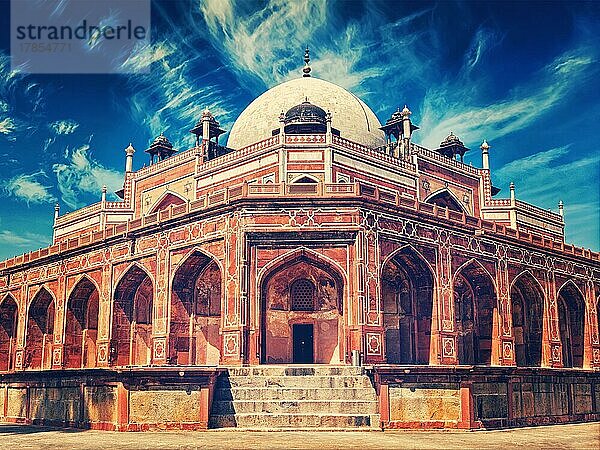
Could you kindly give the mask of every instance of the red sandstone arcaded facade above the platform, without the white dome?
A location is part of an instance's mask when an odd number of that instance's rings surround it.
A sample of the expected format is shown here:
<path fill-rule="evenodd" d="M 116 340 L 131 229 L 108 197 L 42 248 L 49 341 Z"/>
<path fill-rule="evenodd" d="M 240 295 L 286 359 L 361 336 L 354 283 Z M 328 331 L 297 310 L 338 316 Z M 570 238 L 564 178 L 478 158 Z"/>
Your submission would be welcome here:
<path fill-rule="evenodd" d="M 487 144 L 475 168 L 396 119 L 378 148 L 330 114 L 227 149 L 208 113 L 189 150 L 132 171 L 129 147 L 122 201 L 57 212 L 50 247 L 0 263 L 0 371 L 345 365 L 354 350 L 380 381 L 394 365 L 600 368 L 599 254 L 564 243 L 562 214 L 494 198 Z"/>

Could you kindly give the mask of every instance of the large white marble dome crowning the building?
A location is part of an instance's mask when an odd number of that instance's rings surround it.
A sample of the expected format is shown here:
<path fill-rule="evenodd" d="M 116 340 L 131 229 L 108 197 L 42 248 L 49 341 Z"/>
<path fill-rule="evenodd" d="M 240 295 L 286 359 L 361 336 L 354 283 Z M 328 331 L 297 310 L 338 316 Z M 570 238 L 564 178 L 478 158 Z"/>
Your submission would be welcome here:
<path fill-rule="evenodd" d="M 332 114 L 331 125 L 341 137 L 377 147 L 385 144 L 377 116 L 361 99 L 344 88 L 313 77 L 287 81 L 256 98 L 233 124 L 227 147 L 239 149 L 271 137 L 279 115 L 305 99 Z"/>

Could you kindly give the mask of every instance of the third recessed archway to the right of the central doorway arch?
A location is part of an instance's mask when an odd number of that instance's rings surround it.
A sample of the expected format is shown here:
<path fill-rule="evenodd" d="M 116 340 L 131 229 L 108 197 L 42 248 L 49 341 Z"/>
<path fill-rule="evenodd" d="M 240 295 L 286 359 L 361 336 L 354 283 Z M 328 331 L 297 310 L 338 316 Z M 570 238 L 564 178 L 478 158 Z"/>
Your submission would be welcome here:
<path fill-rule="evenodd" d="M 510 299 L 517 366 L 539 367 L 544 323 L 542 287 L 529 272 L 524 272 L 514 280 Z"/>

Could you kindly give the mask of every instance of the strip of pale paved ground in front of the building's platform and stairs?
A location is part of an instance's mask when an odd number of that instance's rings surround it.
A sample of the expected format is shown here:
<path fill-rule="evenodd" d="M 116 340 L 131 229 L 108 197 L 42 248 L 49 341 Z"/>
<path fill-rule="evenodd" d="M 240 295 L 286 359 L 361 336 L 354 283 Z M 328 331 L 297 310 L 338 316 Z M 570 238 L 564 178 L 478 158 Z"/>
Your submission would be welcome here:
<path fill-rule="evenodd" d="M 0 424 L 1 449 L 600 449 L 600 423 L 501 431 L 147 432 Z"/>

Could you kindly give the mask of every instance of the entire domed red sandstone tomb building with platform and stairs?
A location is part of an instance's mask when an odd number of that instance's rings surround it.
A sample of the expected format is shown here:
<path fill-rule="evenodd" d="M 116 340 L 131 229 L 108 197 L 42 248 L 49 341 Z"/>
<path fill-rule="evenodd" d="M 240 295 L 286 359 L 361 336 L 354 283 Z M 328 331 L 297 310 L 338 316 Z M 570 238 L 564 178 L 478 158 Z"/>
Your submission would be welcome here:
<path fill-rule="evenodd" d="M 600 255 L 303 76 L 225 133 L 125 149 L 120 201 L 0 262 L 0 421 L 106 430 L 489 428 L 600 419 Z M 450 131 L 450 130 L 448 130 Z M 503 149 L 502 151 L 506 151 Z M 100 193 L 99 193 L 100 195 Z M 558 199 L 557 199 L 558 200 Z"/>

